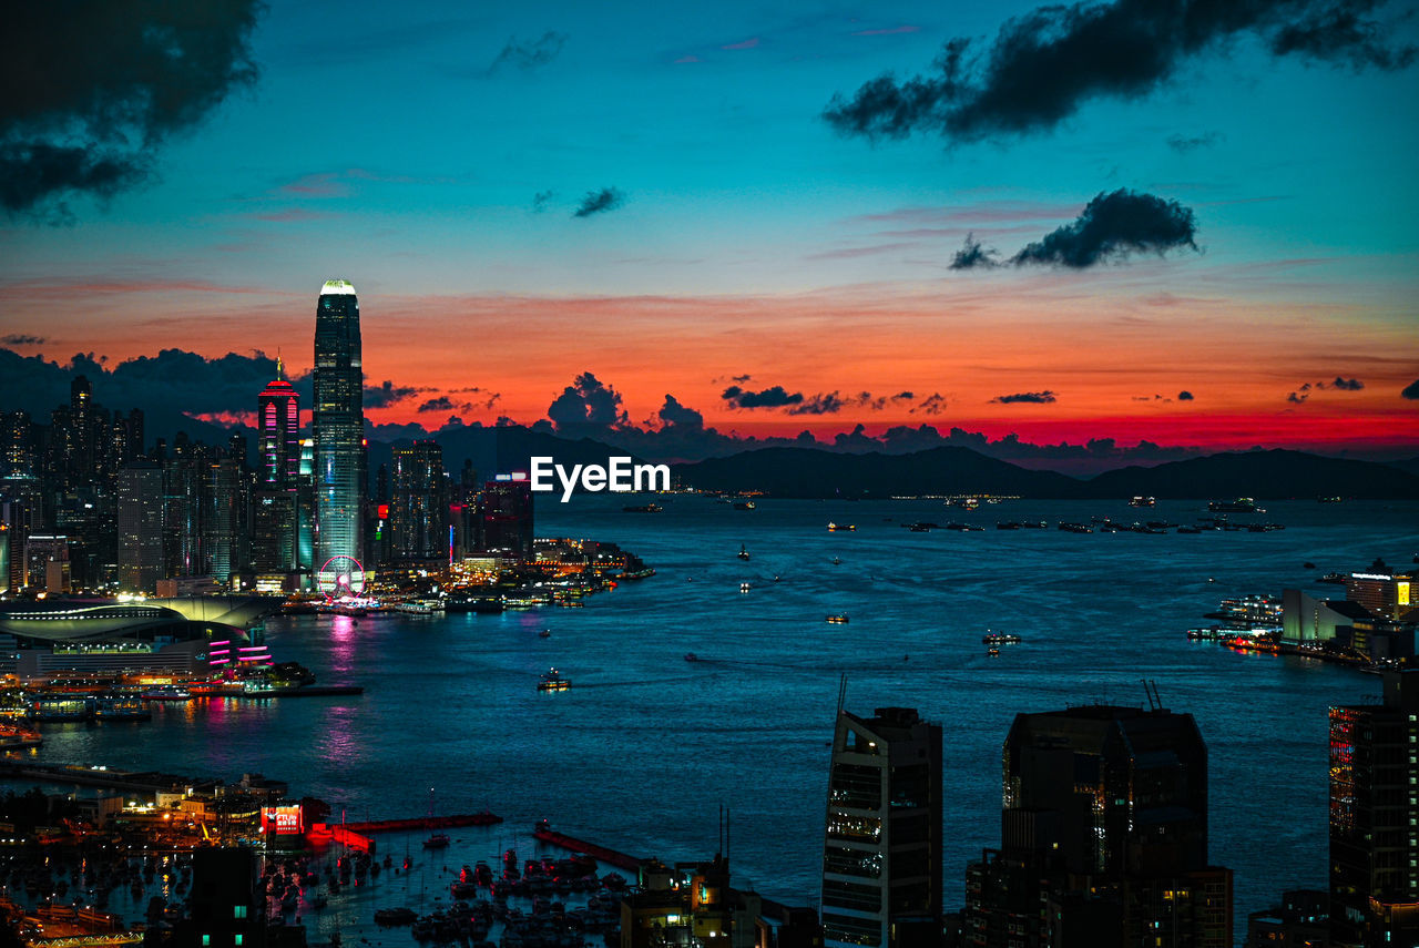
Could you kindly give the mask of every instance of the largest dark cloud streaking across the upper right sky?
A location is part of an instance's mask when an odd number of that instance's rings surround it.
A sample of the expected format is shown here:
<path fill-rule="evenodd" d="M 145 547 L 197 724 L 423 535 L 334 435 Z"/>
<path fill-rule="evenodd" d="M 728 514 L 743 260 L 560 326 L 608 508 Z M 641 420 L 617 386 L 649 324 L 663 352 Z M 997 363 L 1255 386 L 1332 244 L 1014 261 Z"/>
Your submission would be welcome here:
<path fill-rule="evenodd" d="M 915 131 L 971 142 L 1049 132 L 1097 98 L 1139 99 L 1191 60 L 1259 38 L 1273 57 L 1399 70 L 1415 48 L 1388 41 L 1372 14 L 1386 0 L 1115 0 L 1042 6 L 1006 20 L 989 48 L 948 40 L 921 75 L 891 72 L 851 97 L 834 94 L 823 118 L 843 135 L 905 138 Z M 1402 14 L 1396 14 L 1398 16 Z"/>

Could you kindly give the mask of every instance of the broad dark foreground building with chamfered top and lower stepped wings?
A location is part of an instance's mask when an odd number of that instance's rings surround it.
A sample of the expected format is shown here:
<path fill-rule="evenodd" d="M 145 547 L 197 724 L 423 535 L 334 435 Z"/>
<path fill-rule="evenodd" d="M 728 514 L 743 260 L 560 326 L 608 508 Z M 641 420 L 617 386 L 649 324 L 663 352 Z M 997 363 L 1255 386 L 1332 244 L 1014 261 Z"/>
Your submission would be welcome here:
<path fill-rule="evenodd" d="M 1208 864 L 1208 749 L 1191 714 L 1020 714 L 1002 764 L 1002 844 L 968 869 L 966 945 L 1232 945 L 1232 874 Z"/>

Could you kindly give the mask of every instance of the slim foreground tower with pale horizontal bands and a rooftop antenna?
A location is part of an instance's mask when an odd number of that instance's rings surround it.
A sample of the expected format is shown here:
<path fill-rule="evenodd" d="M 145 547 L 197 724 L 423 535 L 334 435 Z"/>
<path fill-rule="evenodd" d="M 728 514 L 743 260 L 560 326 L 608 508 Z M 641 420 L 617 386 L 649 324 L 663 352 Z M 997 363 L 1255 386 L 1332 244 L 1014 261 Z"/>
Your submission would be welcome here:
<path fill-rule="evenodd" d="M 941 725 L 914 708 L 839 711 L 823 840 L 823 941 L 941 941 Z"/>

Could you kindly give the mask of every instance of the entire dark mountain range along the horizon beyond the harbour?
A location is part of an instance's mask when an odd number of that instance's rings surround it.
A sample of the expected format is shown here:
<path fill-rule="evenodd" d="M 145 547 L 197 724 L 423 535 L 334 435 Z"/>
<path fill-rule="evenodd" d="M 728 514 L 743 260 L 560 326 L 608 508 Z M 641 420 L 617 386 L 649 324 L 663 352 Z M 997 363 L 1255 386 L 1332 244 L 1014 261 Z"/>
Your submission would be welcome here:
<path fill-rule="evenodd" d="M 437 436 L 448 474 L 464 458 L 478 475 L 528 470 L 529 458 L 558 464 L 606 464 L 626 451 L 590 439 L 576 441 L 519 426 L 468 427 Z M 407 444 L 396 441 L 394 444 Z M 372 441 L 370 474 L 389 463 L 393 446 Z M 1321 457 L 1301 451 L 1212 454 L 1156 467 L 1125 467 L 1093 480 L 1029 470 L 965 447 L 914 454 L 843 454 L 771 447 L 694 464 L 671 464 L 671 475 L 701 490 L 759 490 L 775 497 L 901 497 L 918 494 L 1002 494 L 1040 498 L 1419 498 L 1419 475 L 1399 465 Z"/>

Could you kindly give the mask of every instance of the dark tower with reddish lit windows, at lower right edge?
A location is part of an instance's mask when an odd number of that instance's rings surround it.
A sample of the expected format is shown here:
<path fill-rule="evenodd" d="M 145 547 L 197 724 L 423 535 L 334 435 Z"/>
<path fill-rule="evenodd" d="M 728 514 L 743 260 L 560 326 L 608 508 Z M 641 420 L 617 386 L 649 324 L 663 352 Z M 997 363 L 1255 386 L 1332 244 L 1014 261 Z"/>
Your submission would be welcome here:
<path fill-rule="evenodd" d="M 1340 948 L 1419 944 L 1419 671 L 1330 710 L 1330 918 Z"/>

